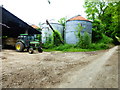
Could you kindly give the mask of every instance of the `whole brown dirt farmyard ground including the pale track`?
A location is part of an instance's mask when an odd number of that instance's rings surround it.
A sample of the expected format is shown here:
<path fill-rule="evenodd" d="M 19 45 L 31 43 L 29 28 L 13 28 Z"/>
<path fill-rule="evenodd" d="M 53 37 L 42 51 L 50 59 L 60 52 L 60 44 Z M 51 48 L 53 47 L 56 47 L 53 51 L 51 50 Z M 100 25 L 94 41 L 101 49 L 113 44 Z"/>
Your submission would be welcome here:
<path fill-rule="evenodd" d="M 118 46 L 95 52 L 1 53 L 3 88 L 118 87 Z"/>

